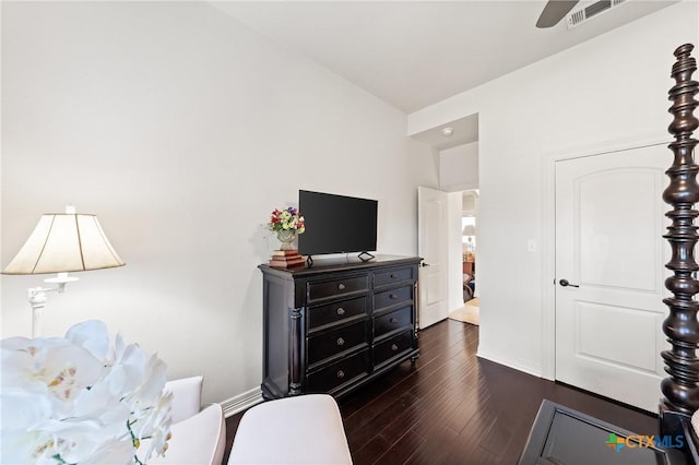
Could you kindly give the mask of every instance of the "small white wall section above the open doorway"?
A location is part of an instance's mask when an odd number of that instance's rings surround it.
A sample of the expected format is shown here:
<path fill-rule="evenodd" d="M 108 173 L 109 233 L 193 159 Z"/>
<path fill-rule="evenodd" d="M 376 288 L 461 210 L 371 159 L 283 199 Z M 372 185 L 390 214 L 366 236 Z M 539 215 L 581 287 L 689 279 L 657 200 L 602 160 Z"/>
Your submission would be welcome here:
<path fill-rule="evenodd" d="M 478 189 L 478 143 L 439 153 L 439 189 L 446 192 Z"/>

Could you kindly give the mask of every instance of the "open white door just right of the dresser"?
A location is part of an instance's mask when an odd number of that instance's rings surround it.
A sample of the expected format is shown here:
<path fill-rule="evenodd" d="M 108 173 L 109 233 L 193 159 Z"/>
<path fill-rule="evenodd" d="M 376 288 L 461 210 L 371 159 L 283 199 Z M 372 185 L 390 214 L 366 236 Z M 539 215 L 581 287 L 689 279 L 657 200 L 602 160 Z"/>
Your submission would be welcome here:
<path fill-rule="evenodd" d="M 418 254 L 423 258 L 417 321 L 420 329 L 446 319 L 449 312 L 447 202 L 446 192 L 417 188 Z"/>

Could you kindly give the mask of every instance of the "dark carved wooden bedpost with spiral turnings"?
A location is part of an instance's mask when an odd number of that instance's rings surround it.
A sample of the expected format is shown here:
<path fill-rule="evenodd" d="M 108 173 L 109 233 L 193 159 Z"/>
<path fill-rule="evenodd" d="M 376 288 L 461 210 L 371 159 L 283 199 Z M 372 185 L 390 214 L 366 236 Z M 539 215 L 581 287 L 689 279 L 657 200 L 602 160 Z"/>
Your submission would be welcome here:
<path fill-rule="evenodd" d="M 674 116 L 668 131 L 675 141 L 670 144 L 674 153 L 673 165 L 665 171 L 670 186 L 663 193 L 663 200 L 673 206 L 666 213 L 672 219 L 664 236 L 672 247 L 672 259 L 665 265 L 674 275 L 665 281 L 665 287 L 673 297 L 664 299 L 670 307 L 670 315 L 663 322 L 663 332 L 672 345 L 661 354 L 665 360 L 665 371 L 670 374 L 661 383 L 664 398 L 660 405 L 661 434 L 679 434 L 683 431 L 680 420 L 690 417 L 699 409 L 699 323 L 697 311 L 699 302 L 694 296 L 699 293 L 699 281 L 692 273 L 699 270 L 695 261 L 697 226 L 694 220 L 699 216 L 695 203 L 699 202 L 697 172 L 699 166 L 694 159 L 697 140 L 692 132 L 699 127 L 694 110 L 699 106 L 694 96 L 699 92 L 699 83 L 691 80 L 697 62 L 690 57 L 691 44 L 685 44 L 675 50 L 677 61 L 673 65 L 672 78 L 676 84 L 670 90 L 673 102 L 670 112 Z"/>

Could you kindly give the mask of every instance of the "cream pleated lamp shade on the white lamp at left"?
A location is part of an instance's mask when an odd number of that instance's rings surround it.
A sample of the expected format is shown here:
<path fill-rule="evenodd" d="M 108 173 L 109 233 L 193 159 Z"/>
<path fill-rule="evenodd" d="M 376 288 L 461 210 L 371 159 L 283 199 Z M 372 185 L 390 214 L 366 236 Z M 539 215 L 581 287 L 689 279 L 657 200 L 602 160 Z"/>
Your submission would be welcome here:
<path fill-rule="evenodd" d="M 122 266 L 95 215 L 43 215 L 3 274 L 69 273 Z"/>

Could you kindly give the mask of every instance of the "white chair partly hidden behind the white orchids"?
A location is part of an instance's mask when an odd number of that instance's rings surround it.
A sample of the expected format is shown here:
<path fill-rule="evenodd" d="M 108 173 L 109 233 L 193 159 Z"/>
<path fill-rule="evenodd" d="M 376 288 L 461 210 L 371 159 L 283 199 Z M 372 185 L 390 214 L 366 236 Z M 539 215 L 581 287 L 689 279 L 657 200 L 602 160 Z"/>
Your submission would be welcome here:
<path fill-rule="evenodd" d="M 220 465 L 226 446 L 226 426 L 218 404 L 202 408 L 202 377 L 185 378 L 165 383 L 173 392 L 173 434 L 165 456 L 153 457 L 149 464 Z"/>

